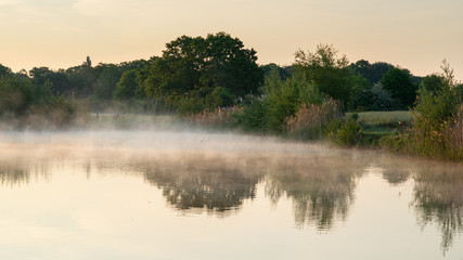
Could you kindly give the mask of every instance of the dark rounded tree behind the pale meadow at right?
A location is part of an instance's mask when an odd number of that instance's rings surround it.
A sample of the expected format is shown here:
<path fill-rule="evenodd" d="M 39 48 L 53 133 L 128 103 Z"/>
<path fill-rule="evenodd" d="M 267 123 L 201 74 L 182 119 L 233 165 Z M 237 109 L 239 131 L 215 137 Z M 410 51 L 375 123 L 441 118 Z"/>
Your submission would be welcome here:
<path fill-rule="evenodd" d="M 417 86 L 411 81 L 408 69 L 391 68 L 380 82 L 391 93 L 401 108 L 408 108 L 415 102 Z"/>

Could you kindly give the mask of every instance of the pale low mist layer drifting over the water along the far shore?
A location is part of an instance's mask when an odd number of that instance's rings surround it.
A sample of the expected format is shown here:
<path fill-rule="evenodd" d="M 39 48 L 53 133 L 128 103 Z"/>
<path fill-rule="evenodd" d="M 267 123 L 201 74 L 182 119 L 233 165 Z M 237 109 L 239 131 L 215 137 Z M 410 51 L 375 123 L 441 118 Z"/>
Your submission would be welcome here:
<path fill-rule="evenodd" d="M 104 157 L 151 156 L 172 153 L 274 154 L 304 155 L 340 153 L 320 143 L 296 143 L 270 136 L 235 133 L 166 130 L 73 130 L 73 131 L 3 131 L 0 132 L 0 155 L 28 154 L 46 156 Z"/>

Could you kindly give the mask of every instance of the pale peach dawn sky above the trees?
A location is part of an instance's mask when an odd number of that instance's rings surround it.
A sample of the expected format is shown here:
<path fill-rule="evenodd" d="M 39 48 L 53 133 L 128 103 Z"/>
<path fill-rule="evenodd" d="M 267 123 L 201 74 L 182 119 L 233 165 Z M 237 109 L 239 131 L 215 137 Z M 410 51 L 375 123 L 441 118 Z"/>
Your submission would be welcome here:
<path fill-rule="evenodd" d="M 14 72 L 150 58 L 179 36 L 218 31 L 259 64 L 327 43 L 417 76 L 446 58 L 463 79 L 462 0 L 0 0 L 0 63 Z"/>

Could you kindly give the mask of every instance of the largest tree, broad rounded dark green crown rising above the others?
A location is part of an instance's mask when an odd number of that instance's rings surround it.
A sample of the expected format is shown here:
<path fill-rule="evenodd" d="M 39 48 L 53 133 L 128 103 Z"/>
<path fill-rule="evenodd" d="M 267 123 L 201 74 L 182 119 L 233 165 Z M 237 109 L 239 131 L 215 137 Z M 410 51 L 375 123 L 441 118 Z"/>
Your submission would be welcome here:
<path fill-rule="evenodd" d="M 162 57 L 153 58 L 146 93 L 172 105 L 184 104 L 185 99 L 190 104 L 217 100 L 207 96 L 223 91 L 244 98 L 257 93 L 263 81 L 256 61 L 254 49 L 245 49 L 239 38 L 228 34 L 181 36 L 166 44 Z"/>

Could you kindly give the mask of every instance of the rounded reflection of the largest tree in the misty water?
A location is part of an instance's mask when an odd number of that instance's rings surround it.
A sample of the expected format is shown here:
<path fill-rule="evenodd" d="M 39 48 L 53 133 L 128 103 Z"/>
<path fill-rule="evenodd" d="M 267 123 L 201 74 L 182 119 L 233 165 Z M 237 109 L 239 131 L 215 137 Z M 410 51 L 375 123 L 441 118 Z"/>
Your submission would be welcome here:
<path fill-rule="evenodd" d="M 256 196 L 263 160 L 244 157 L 184 156 L 151 161 L 145 179 L 162 188 L 176 208 L 223 212 Z"/>

